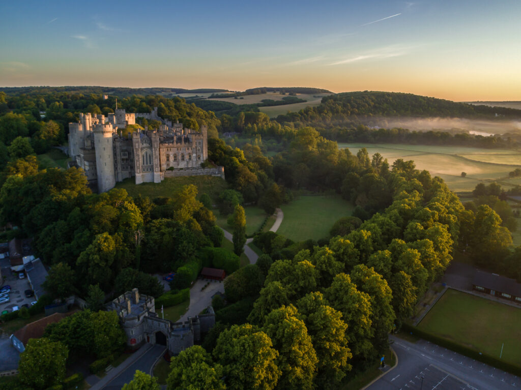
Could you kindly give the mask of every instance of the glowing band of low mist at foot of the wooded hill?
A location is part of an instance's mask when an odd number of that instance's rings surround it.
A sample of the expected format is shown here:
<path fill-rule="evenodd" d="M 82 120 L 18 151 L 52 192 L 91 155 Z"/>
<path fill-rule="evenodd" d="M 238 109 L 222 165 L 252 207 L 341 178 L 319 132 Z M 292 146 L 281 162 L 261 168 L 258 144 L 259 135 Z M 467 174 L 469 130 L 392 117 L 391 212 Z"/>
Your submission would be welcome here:
<path fill-rule="evenodd" d="M 520 132 L 521 122 L 512 120 L 475 120 L 462 118 L 371 118 L 366 121 L 371 127 L 403 128 L 416 131 L 466 131 L 471 134 L 494 135 Z"/>

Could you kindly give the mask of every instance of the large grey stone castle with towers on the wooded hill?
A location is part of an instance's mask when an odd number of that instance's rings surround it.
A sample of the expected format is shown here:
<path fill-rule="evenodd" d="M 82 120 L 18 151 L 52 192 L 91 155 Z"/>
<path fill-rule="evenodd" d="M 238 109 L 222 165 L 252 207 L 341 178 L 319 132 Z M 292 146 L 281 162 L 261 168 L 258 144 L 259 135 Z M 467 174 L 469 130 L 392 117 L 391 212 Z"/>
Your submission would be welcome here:
<path fill-rule="evenodd" d="M 157 114 L 127 114 L 125 109 L 92 116 L 80 114 L 78 123 L 69 123 L 70 166 L 82 168 L 98 192 L 110 190 L 124 179 L 135 177 L 135 184 L 159 183 L 165 177 L 214 175 L 224 178 L 224 168 L 203 168 L 208 158 L 208 129 L 183 129 Z M 135 118 L 161 122 L 157 131 L 125 131 Z"/>

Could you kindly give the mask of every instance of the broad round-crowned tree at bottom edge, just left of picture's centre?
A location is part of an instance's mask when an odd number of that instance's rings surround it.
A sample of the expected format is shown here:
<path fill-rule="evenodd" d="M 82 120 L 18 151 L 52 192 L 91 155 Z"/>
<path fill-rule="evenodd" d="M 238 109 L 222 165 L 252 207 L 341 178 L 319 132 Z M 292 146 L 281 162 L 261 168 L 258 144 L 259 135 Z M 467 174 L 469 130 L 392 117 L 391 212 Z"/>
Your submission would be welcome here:
<path fill-rule="evenodd" d="M 224 368 L 229 390 L 270 390 L 281 375 L 278 352 L 269 336 L 250 324 L 233 325 L 222 331 L 213 355 Z"/>

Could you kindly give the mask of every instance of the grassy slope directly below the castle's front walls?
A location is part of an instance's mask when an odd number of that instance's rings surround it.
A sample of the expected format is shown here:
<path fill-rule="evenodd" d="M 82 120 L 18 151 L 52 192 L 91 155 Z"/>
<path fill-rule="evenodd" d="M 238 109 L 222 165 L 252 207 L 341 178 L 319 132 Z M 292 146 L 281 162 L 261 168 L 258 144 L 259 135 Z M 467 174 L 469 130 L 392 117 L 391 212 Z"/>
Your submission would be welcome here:
<path fill-rule="evenodd" d="M 179 178 L 167 178 L 160 183 L 142 183 L 135 185 L 134 178 L 125 179 L 116 183 L 116 188 L 125 188 L 130 196 L 141 194 L 154 199 L 158 196 L 173 196 L 183 185 L 195 184 L 199 195 L 207 193 L 212 199 L 217 199 L 219 194 L 226 190 L 224 179 L 214 176 L 183 176 Z"/>

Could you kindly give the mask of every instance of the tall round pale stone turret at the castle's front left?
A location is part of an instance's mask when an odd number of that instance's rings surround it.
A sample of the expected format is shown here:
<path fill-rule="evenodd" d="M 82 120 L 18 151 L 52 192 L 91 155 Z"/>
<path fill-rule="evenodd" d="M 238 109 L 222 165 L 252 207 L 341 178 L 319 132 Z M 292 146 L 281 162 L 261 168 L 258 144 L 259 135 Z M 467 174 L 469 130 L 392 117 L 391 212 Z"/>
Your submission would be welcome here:
<path fill-rule="evenodd" d="M 98 192 L 106 192 L 116 185 L 114 172 L 112 125 L 98 123 L 94 127 L 94 148 L 96 150 L 96 171 Z"/>

